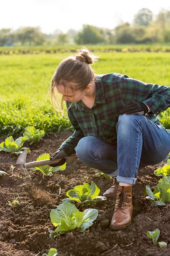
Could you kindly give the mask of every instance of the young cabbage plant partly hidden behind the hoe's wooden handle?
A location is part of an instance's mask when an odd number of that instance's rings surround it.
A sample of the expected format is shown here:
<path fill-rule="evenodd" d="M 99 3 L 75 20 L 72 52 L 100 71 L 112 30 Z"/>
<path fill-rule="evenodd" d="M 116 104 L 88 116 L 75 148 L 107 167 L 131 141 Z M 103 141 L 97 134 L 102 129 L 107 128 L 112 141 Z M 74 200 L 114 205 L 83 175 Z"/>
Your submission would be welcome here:
<path fill-rule="evenodd" d="M 37 161 L 41 161 L 41 160 L 47 160 L 50 159 L 50 155 L 49 154 L 42 154 L 37 158 Z M 41 171 L 44 175 L 47 176 L 53 176 L 54 172 L 57 171 L 64 171 L 66 168 L 66 163 L 61 165 L 61 166 L 56 166 L 56 167 L 51 167 L 49 165 L 44 165 L 44 166 L 39 166 L 39 167 L 34 167 L 32 168 L 33 170 L 39 170 Z"/>

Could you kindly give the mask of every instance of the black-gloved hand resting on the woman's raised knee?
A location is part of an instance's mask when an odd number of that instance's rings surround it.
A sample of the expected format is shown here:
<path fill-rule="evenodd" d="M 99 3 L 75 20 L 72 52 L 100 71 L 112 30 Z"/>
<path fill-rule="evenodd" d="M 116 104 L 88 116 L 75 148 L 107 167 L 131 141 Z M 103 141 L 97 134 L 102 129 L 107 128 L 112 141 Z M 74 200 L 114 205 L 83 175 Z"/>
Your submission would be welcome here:
<path fill-rule="evenodd" d="M 137 115 L 144 115 L 148 112 L 148 107 L 145 105 L 145 103 L 137 103 L 135 101 L 129 101 L 128 103 L 124 104 L 119 111 L 120 115 L 123 114 L 137 114 Z"/>

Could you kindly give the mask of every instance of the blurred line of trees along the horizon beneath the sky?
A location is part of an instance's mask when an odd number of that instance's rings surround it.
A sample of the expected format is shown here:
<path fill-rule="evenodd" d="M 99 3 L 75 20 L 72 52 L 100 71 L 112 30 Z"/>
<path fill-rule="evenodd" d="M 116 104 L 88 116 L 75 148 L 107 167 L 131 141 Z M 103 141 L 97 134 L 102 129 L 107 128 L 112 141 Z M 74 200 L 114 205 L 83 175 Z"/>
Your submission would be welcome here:
<path fill-rule="evenodd" d="M 83 25 L 81 31 L 70 29 L 66 34 L 60 29 L 43 34 L 40 27 L 0 30 L 0 46 L 130 43 L 170 43 L 170 11 L 161 11 L 153 19 L 152 11 L 143 8 L 135 14 L 132 24 L 124 22 L 113 29 Z"/>

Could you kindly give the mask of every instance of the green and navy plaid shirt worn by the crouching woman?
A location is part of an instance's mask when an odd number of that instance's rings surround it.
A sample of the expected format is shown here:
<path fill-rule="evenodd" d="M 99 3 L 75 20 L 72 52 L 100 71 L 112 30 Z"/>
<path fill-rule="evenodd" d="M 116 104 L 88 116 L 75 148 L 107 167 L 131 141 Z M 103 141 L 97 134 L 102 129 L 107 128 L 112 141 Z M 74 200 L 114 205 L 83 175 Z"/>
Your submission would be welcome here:
<path fill-rule="evenodd" d="M 96 97 L 91 109 L 84 106 L 82 101 L 72 105 L 66 101 L 68 118 L 75 130 L 60 146 L 68 155 L 75 153 L 75 146 L 84 136 L 95 136 L 116 144 L 116 125 L 124 103 L 132 100 L 146 103 L 152 113 L 145 116 L 159 125 L 157 115 L 170 107 L 170 87 L 165 85 L 146 84 L 117 73 L 97 75 L 95 81 Z"/>

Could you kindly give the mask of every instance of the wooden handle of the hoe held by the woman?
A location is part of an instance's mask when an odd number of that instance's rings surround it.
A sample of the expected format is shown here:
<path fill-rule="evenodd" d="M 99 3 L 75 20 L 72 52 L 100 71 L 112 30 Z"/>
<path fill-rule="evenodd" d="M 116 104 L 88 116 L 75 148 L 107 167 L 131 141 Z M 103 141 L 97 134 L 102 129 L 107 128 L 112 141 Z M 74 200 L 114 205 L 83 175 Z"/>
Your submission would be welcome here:
<path fill-rule="evenodd" d="M 31 168 L 31 167 L 44 166 L 44 165 L 49 165 L 49 164 L 56 164 L 63 158 L 66 158 L 66 162 L 74 161 L 77 159 L 77 155 L 68 155 L 67 157 L 58 157 L 57 159 L 55 159 L 53 161 L 51 161 L 50 159 L 41 160 L 41 161 L 33 161 L 33 162 L 26 163 L 24 167 Z"/>

